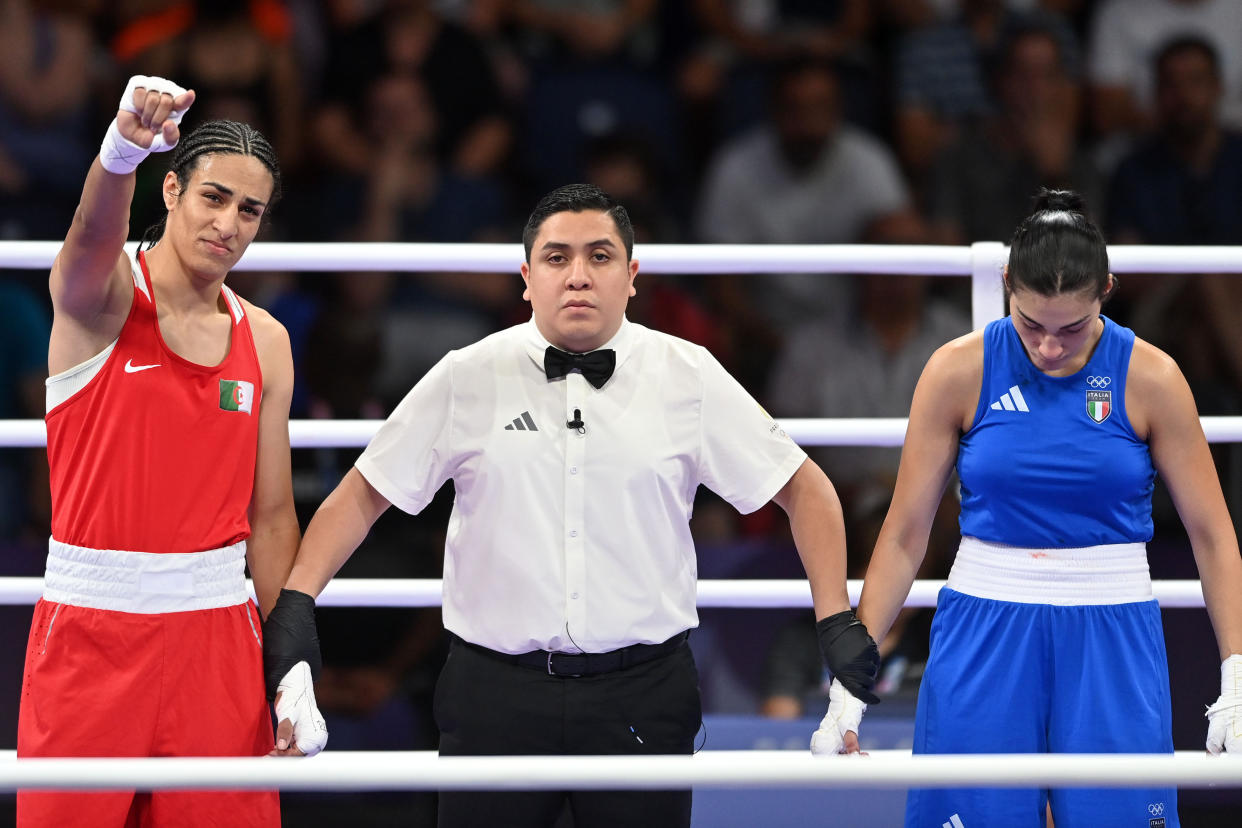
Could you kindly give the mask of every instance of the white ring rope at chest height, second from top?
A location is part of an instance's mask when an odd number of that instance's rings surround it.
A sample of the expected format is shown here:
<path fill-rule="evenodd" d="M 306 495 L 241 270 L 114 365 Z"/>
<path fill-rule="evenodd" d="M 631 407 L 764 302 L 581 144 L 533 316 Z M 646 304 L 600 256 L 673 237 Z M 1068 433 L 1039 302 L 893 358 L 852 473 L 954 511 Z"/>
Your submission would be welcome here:
<path fill-rule="evenodd" d="M 361 448 L 380 427 L 380 420 L 293 420 L 293 448 Z M 800 446 L 900 446 L 905 441 L 903 417 L 825 417 L 780 420 Z M 1200 417 L 1210 443 L 1242 443 L 1242 417 Z M 42 420 L 0 420 L 0 447 L 47 444 Z"/>

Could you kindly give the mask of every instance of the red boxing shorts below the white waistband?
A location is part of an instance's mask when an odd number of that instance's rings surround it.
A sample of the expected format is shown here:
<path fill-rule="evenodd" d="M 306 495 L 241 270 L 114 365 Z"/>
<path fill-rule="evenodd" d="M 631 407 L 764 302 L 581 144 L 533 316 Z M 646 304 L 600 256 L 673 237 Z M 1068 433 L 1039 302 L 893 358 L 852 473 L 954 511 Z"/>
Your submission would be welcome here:
<path fill-rule="evenodd" d="M 133 613 L 40 600 L 17 756 L 263 756 L 273 747 L 252 602 Z M 19 792 L 19 826 L 279 826 L 261 792 Z"/>

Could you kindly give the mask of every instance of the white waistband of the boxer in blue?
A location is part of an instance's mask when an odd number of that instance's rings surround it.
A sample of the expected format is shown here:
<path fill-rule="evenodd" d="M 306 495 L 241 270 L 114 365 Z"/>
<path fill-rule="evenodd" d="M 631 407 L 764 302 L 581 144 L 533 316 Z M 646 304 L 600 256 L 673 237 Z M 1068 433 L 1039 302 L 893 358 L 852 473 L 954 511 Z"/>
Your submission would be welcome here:
<path fill-rule="evenodd" d="M 945 586 L 979 598 L 1058 606 L 1153 598 L 1145 544 L 1026 549 L 963 538 Z"/>

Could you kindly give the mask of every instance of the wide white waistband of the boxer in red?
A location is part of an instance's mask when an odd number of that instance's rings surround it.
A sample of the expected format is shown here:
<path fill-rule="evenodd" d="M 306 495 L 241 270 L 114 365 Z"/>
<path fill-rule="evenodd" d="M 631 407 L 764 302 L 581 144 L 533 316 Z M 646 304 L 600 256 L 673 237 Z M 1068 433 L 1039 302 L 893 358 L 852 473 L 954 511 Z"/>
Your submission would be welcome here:
<path fill-rule="evenodd" d="M 130 552 L 52 538 L 43 598 L 144 614 L 246 603 L 246 541 L 202 552 Z"/>

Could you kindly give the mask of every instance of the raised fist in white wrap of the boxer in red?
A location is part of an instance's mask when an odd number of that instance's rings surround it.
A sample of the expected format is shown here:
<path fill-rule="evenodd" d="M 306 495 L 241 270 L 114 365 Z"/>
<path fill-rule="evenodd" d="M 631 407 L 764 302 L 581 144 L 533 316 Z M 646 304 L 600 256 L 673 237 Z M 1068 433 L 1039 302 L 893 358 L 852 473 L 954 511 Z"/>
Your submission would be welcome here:
<path fill-rule="evenodd" d="M 125 175 L 152 153 L 173 149 L 191 103 L 194 92 L 171 81 L 145 74 L 129 78 L 117 117 L 99 145 L 99 164 L 109 173 Z"/>

